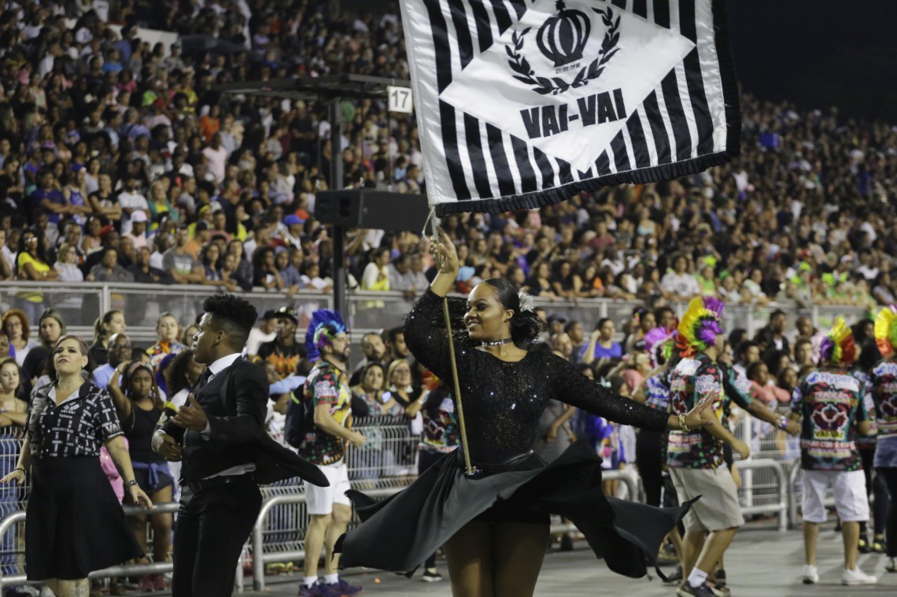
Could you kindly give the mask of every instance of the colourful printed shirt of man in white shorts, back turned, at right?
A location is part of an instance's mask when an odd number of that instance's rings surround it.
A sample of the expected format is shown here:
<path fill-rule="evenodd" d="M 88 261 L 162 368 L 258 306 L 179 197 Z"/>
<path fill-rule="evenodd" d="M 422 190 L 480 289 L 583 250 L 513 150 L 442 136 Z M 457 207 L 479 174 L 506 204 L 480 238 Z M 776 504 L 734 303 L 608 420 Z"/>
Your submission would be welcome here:
<path fill-rule="evenodd" d="M 797 385 L 791 411 L 801 416 L 801 468 L 860 471 L 855 440 L 858 424 L 869 420 L 866 385 L 845 368 L 811 371 Z"/>

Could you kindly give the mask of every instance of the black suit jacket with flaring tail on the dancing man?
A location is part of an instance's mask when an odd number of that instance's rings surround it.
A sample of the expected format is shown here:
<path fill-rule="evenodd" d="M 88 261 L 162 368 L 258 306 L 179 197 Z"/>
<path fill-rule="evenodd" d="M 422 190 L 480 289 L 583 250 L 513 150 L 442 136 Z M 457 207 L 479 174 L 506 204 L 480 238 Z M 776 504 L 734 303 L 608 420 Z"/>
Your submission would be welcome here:
<path fill-rule="evenodd" d="M 258 483 L 300 477 L 327 487 L 317 466 L 300 458 L 268 436 L 265 429 L 268 379 L 265 370 L 239 358 L 220 371 L 199 392 L 209 420 L 209 437 L 174 425 L 162 431 L 184 446 L 181 479 L 200 480 L 240 464 L 256 465 Z"/>

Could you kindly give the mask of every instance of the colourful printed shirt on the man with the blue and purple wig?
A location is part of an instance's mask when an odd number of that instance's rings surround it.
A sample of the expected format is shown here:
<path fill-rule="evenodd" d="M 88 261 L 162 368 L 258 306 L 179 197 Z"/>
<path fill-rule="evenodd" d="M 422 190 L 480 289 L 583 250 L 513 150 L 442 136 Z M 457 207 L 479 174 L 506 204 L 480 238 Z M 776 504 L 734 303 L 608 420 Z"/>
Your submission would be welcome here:
<path fill-rule="evenodd" d="M 319 404 L 328 404 L 330 416 L 337 423 L 345 427 L 349 422 L 352 393 L 345 383 L 345 374 L 326 360 L 321 359 L 311 370 L 308 379 L 305 380 L 302 394 L 309 402 L 309 417 L 313 416 L 312 413 Z M 345 455 L 344 440 L 342 437 L 331 436 L 318 426 L 313 426 L 312 432 L 306 434 L 299 447 L 299 454 L 311 463 L 335 464 Z"/>

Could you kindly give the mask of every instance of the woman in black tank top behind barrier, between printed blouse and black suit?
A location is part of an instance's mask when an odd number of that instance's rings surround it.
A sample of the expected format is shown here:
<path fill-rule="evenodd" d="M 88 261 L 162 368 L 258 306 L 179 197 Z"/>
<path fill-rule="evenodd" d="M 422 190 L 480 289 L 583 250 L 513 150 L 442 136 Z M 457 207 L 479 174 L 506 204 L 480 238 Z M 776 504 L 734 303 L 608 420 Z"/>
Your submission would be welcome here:
<path fill-rule="evenodd" d="M 174 480 L 165 459 L 152 451 L 152 434 L 156 430 L 156 424 L 162 416 L 164 407 L 159 388 L 155 384 L 155 376 L 152 375 L 152 368 L 141 362 L 121 363 L 109 378 L 109 394 L 118 411 L 118 420 L 121 421 L 125 431 L 135 479 L 153 502 L 158 504 L 170 502 Z M 146 522 L 146 515 L 131 518 L 131 527 L 144 551 Z M 150 523 L 153 537 L 152 561 L 167 561 L 173 517 L 170 514 L 152 515 Z M 165 588 L 165 577 L 161 574 L 144 575 L 138 585 L 140 591 L 164 591 Z"/>

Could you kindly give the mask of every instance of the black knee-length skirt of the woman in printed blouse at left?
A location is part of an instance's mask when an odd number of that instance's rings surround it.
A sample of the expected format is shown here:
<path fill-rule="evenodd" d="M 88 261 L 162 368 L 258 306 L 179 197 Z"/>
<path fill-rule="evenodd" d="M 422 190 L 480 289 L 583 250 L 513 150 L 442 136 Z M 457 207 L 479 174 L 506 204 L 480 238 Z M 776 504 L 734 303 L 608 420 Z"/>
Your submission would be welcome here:
<path fill-rule="evenodd" d="M 39 458 L 25 515 L 28 580 L 74 580 L 144 555 L 96 457 Z"/>

